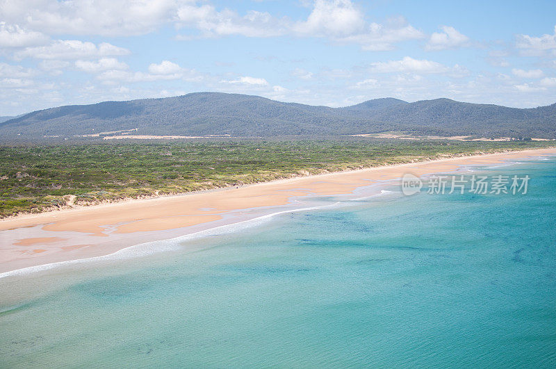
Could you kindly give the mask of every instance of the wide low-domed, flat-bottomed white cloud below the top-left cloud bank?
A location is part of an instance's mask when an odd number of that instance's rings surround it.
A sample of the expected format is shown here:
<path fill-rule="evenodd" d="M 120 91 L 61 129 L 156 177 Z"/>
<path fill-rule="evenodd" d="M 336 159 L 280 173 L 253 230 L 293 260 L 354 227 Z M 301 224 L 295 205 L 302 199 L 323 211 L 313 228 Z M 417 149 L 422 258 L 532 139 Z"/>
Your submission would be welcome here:
<path fill-rule="evenodd" d="M 38 59 L 90 59 L 102 56 L 129 54 L 129 50 L 114 46 L 108 42 L 93 44 L 79 40 L 56 40 L 47 46 L 27 47 L 15 53 L 15 58 Z"/>

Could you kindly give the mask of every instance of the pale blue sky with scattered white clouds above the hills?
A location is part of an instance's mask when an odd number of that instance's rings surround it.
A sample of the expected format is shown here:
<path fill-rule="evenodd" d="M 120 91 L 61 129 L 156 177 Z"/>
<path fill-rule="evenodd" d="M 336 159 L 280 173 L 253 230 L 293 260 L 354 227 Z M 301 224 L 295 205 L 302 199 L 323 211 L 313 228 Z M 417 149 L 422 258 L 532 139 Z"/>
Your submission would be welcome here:
<path fill-rule="evenodd" d="M 0 0 L 0 115 L 220 91 L 556 102 L 556 1 Z"/>

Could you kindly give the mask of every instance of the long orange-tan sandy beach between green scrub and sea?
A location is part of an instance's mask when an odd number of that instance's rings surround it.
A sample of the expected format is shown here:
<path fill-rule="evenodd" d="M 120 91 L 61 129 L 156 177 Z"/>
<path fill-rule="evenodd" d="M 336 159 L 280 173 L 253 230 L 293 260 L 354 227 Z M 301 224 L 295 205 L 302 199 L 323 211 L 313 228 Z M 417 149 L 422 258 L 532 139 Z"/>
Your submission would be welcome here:
<path fill-rule="evenodd" d="M 419 177 L 450 172 L 463 165 L 493 165 L 555 154 L 556 149 L 539 149 L 445 158 L 20 215 L 0 221 L 0 272 L 111 254 L 138 243 L 237 222 L 245 219 L 250 209 L 276 208 L 307 195 L 349 194 L 362 186 L 399 179 L 406 173 Z"/>

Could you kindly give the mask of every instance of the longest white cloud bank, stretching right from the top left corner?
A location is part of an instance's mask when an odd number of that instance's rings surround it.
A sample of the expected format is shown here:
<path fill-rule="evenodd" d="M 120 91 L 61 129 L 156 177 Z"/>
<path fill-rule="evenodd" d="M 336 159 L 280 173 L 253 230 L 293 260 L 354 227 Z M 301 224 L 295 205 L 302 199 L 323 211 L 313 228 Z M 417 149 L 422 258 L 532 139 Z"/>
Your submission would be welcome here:
<path fill-rule="evenodd" d="M 3 0 L 2 5 L 0 19 L 17 24 L 8 31 L 20 34 L 21 39 L 9 40 L 22 46 L 38 45 L 28 42 L 39 42 L 42 33 L 129 36 L 150 33 L 165 24 L 198 32 L 178 35 L 181 40 L 226 35 L 257 38 L 289 35 L 354 42 L 373 51 L 390 50 L 396 42 L 425 37 L 403 18 L 390 19 L 386 24 L 368 23 L 361 9 L 350 0 L 315 0 L 309 16 L 300 20 L 256 10 L 241 15 L 235 10 L 218 10 L 211 3 L 195 0 Z"/>

